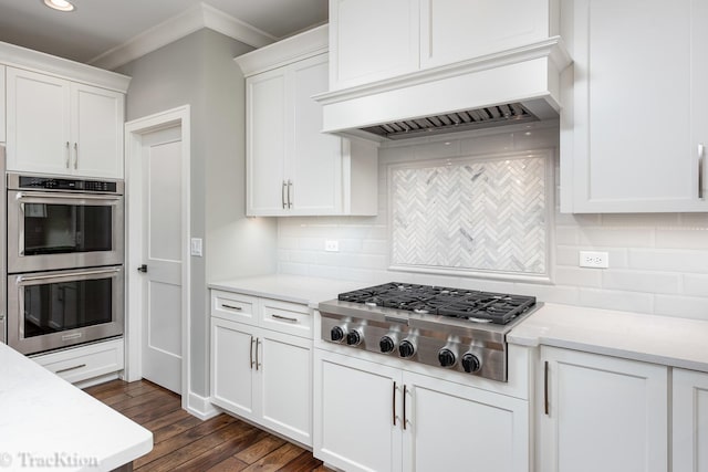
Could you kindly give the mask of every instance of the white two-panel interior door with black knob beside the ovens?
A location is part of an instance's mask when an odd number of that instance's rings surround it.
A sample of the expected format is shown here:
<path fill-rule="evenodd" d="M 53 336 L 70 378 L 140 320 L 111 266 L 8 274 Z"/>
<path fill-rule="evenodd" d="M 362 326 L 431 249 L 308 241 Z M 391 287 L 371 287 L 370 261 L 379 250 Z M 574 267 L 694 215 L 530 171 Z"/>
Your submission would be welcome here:
<path fill-rule="evenodd" d="M 181 395 L 181 128 L 143 136 L 143 377 Z"/>

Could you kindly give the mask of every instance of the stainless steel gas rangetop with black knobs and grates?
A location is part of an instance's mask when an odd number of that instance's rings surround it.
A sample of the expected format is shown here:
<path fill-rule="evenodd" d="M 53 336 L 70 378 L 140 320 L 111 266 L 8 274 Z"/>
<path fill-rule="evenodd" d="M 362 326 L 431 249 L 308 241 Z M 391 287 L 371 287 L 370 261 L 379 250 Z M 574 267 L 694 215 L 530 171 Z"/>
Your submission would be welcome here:
<path fill-rule="evenodd" d="M 322 302 L 321 337 L 352 348 L 507 381 L 507 334 L 535 297 L 406 283 Z"/>

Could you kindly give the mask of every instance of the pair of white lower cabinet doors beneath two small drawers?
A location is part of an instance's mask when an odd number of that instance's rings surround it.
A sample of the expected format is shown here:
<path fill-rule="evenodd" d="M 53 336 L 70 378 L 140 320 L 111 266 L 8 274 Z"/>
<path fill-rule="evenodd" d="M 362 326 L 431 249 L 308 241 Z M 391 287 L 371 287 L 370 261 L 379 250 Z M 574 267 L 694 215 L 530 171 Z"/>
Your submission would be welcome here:
<path fill-rule="evenodd" d="M 312 445 L 312 340 L 211 318 L 211 402 Z"/>

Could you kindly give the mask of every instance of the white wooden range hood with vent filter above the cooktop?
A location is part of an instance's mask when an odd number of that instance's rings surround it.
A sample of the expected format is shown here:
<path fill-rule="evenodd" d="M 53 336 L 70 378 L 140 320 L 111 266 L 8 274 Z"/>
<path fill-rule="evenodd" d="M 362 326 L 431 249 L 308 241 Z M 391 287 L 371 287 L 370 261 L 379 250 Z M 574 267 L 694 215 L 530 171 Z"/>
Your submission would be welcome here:
<path fill-rule="evenodd" d="M 323 132 L 405 139 L 552 119 L 561 72 L 559 36 L 501 53 L 316 95 Z"/>

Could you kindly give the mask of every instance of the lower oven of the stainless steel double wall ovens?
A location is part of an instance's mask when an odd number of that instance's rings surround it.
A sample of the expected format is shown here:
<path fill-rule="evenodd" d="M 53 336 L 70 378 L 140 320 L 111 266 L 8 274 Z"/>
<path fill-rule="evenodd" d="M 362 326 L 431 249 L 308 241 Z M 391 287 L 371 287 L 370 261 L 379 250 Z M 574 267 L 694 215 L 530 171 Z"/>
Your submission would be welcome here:
<path fill-rule="evenodd" d="M 34 354 L 123 334 L 123 266 L 8 275 L 8 344 Z"/>

